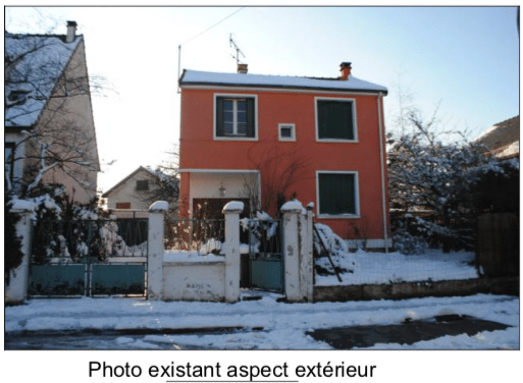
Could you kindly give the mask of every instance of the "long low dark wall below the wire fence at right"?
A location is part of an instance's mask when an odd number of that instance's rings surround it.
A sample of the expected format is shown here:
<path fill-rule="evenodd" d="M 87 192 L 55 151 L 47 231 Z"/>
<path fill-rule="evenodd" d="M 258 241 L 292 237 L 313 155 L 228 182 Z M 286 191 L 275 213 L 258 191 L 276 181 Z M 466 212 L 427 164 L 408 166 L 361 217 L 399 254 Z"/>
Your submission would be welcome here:
<path fill-rule="evenodd" d="M 314 286 L 314 301 L 407 299 L 472 294 L 519 296 L 519 277 L 476 278 L 438 282 L 402 282 L 382 285 Z"/>

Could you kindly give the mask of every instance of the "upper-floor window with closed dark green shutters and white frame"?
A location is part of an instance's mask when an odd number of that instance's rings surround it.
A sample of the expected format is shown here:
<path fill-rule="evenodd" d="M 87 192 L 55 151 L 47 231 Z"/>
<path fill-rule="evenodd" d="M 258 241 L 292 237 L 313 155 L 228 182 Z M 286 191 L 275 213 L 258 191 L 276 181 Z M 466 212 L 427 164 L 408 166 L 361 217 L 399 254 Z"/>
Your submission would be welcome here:
<path fill-rule="evenodd" d="M 358 141 L 353 99 L 315 98 L 318 141 Z"/>

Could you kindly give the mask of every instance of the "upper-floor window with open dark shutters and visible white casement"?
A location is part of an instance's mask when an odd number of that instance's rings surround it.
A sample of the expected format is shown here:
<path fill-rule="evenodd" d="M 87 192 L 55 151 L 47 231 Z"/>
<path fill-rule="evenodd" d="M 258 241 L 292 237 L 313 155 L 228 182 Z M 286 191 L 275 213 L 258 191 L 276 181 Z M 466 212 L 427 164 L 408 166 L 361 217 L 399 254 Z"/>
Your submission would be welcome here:
<path fill-rule="evenodd" d="M 215 96 L 215 138 L 256 139 L 256 120 L 256 96 Z"/>

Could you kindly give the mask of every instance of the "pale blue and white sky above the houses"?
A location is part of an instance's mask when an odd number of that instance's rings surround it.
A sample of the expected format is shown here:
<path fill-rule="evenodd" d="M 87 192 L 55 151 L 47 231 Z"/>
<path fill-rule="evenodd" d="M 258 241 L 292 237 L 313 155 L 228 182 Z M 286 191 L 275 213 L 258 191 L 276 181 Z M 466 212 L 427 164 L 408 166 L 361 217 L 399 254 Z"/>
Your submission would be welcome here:
<path fill-rule="evenodd" d="M 234 73 L 231 37 L 252 74 L 336 77 L 351 62 L 355 77 L 389 88 L 388 131 L 400 90 L 404 105 L 426 119 L 437 110 L 442 129 L 470 139 L 519 114 L 515 6 L 5 8 L 10 32 L 58 22 L 62 34 L 67 20 L 84 35 L 89 75 L 107 82 L 93 97 L 103 191 L 172 158 L 179 68 Z"/>

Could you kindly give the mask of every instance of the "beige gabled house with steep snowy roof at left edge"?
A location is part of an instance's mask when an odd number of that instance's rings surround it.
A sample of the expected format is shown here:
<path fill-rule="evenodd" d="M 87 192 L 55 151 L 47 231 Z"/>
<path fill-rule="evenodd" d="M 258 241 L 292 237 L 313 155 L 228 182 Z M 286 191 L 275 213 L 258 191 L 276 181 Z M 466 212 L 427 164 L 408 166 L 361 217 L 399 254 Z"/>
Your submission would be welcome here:
<path fill-rule="evenodd" d="M 65 185 L 75 201 L 96 196 L 99 171 L 84 38 L 5 32 L 5 180 L 17 192 Z"/>

